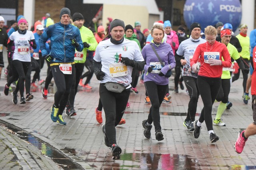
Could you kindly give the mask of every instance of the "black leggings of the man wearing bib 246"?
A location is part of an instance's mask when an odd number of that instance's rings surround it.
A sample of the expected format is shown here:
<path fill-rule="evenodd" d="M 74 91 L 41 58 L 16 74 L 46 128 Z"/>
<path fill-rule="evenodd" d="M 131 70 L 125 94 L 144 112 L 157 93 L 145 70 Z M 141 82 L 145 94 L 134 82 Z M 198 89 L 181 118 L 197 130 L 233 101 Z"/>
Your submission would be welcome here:
<path fill-rule="evenodd" d="M 106 126 L 105 131 L 110 145 L 116 144 L 116 126 L 121 121 L 126 104 L 130 96 L 130 89 L 124 90 L 121 93 L 110 92 L 104 84 L 100 84 L 100 100 L 102 102 Z"/>

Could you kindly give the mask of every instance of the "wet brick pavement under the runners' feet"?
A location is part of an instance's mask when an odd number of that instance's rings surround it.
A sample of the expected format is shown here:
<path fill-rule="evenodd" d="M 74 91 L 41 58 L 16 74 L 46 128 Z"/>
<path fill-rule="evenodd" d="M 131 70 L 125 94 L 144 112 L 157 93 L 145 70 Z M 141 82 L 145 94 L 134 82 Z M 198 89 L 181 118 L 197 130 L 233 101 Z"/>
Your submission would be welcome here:
<path fill-rule="evenodd" d="M 41 77 L 42 79 L 46 77 L 46 64 L 42 69 Z M 4 84 L 2 74 L 1 90 Z M 101 125 L 95 118 L 94 110 L 99 99 L 98 81 L 95 76 L 90 86 L 92 90 L 79 87 L 75 100 L 77 115 L 70 119 L 63 114 L 67 125 L 58 125 L 51 121 L 50 107 L 54 101 L 54 94 L 51 93 L 48 99 L 44 99 L 40 87 L 31 89 L 34 99 L 25 105 L 12 104 L 11 94 L 5 96 L 1 91 L 0 120 L 32 135 L 31 140 L 40 139 L 45 145 L 67 156 L 71 162 L 76 162 L 82 169 L 256 169 L 255 136 L 249 137 L 241 154 L 234 151 L 238 132 L 252 122 L 251 100 L 248 105 L 243 103 L 241 78 L 231 87 L 229 100 L 233 106 L 222 115 L 226 127 L 214 126 L 214 133 L 220 137 L 220 140 L 213 144 L 210 142 L 205 123 L 202 124 L 198 139 L 195 139 L 182 125 L 186 118 L 189 96 L 186 95 L 185 90 L 179 90 L 178 94 L 172 92 L 173 77 L 170 78 L 169 84 L 172 103 L 162 104 L 160 108 L 164 140 L 155 139 L 154 127 L 151 131 L 152 137 L 146 139 L 143 135 L 142 121 L 147 119 L 150 105 L 144 104 L 144 85 L 138 83 L 139 94 L 130 95 L 131 106 L 124 114 L 126 124 L 116 127 L 117 144 L 122 149 L 120 160 L 112 160 L 111 150 L 103 142 Z M 54 87 L 51 88 L 54 92 Z M 202 107 L 200 98 L 197 113 L 201 112 Z M 213 118 L 217 107 L 218 104 L 215 103 Z M 199 115 L 196 115 L 196 120 Z M 104 113 L 102 117 L 104 121 Z"/>

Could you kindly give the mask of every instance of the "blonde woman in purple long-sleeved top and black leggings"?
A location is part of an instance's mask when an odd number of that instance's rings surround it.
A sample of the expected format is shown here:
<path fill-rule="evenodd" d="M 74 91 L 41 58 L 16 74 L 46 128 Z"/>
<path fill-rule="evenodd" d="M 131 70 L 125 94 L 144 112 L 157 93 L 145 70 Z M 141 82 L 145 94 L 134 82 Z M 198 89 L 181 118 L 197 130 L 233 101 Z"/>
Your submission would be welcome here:
<path fill-rule="evenodd" d="M 141 52 L 146 61 L 146 65 L 144 66 L 144 83 L 152 105 L 149 110 L 148 119 L 142 121 L 142 125 L 144 127 L 144 136 L 149 139 L 151 136 L 151 124 L 153 122 L 156 140 L 162 141 L 164 138 L 161 131 L 159 108 L 169 83 L 165 74 L 168 70 L 172 70 L 176 66 L 176 63 L 172 47 L 170 44 L 164 43 L 163 41 L 163 27 L 161 25 L 154 25 L 151 29 L 151 35 L 153 40 L 150 42 L 150 45 L 146 45 Z M 164 66 L 160 63 L 153 48 L 156 50 Z"/>

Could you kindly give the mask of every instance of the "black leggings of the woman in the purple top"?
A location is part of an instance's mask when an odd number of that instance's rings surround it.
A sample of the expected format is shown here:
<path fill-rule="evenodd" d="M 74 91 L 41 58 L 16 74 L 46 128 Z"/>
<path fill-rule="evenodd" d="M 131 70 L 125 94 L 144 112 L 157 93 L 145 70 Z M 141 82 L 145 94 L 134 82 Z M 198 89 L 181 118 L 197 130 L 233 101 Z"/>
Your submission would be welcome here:
<path fill-rule="evenodd" d="M 147 122 L 150 124 L 152 124 L 152 122 L 154 123 L 155 131 L 161 130 L 159 109 L 163 102 L 163 98 L 166 92 L 166 88 L 168 88 L 168 84 L 159 85 L 152 81 L 147 81 L 144 83 L 148 92 L 148 97 L 151 102 Z"/>

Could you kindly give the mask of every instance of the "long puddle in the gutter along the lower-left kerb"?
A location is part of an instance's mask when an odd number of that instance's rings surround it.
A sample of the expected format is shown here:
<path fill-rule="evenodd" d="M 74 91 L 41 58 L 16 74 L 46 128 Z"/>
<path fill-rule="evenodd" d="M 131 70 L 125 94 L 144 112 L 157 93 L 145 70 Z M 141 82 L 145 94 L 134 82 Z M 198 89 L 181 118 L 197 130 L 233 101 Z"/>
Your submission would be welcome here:
<path fill-rule="evenodd" d="M 20 139 L 27 141 L 38 148 L 44 156 L 50 158 L 53 162 L 58 164 L 58 166 L 62 167 L 64 170 L 78 170 L 82 169 L 78 164 L 70 160 L 68 157 L 64 156 L 57 150 L 53 149 L 46 143 L 42 142 L 40 139 L 37 139 L 33 135 L 26 133 L 24 131 L 20 131 L 16 127 L 7 125 L 3 122 L 0 122 L 0 126 L 5 127 L 13 132 L 14 135 L 18 136 Z"/>

